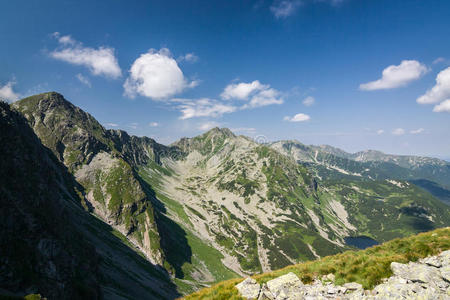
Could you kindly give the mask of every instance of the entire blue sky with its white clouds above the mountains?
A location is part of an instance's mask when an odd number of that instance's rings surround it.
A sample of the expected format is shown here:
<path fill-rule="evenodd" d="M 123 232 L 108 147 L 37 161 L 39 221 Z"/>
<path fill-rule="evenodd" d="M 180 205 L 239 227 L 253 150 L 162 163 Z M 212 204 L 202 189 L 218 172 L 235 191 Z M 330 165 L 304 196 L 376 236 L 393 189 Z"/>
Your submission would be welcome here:
<path fill-rule="evenodd" d="M 449 1 L 92 2 L 0 2 L 0 97 L 58 91 L 166 144 L 220 126 L 450 158 Z"/>

